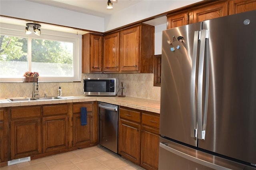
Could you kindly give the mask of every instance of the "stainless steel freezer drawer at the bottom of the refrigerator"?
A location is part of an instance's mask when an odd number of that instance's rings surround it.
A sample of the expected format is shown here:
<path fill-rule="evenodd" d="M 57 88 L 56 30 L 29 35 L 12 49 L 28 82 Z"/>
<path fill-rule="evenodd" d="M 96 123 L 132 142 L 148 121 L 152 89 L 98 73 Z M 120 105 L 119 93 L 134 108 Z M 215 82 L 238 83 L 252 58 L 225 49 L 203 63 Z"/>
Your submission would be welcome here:
<path fill-rule="evenodd" d="M 255 170 L 160 137 L 159 170 Z"/>

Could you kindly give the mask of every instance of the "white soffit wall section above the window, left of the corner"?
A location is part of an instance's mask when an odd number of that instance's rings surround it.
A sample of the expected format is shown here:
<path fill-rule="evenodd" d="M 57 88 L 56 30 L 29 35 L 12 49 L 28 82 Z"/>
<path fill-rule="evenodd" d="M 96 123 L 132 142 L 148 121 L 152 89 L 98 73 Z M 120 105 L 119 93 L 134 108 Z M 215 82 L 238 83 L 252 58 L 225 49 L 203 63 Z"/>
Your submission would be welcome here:
<path fill-rule="evenodd" d="M 0 14 L 26 20 L 104 32 L 104 18 L 26 0 L 0 0 Z"/>

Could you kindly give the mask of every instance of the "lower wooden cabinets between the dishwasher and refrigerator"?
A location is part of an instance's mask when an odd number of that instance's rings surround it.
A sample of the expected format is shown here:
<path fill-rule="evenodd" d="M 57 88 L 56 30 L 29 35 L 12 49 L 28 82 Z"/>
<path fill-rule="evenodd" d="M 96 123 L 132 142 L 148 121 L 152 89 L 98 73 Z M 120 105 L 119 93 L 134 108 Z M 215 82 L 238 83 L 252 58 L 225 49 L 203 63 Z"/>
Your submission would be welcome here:
<path fill-rule="evenodd" d="M 159 114 L 119 109 L 118 153 L 149 170 L 158 169 Z"/>

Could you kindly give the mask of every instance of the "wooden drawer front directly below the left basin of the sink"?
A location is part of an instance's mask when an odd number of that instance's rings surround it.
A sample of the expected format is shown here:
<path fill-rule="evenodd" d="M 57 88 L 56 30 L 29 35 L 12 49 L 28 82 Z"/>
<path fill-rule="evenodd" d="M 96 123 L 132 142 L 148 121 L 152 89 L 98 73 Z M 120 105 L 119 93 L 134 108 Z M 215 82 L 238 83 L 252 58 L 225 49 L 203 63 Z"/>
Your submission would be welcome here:
<path fill-rule="evenodd" d="M 11 119 L 41 116 L 40 107 L 23 107 L 11 109 Z"/>

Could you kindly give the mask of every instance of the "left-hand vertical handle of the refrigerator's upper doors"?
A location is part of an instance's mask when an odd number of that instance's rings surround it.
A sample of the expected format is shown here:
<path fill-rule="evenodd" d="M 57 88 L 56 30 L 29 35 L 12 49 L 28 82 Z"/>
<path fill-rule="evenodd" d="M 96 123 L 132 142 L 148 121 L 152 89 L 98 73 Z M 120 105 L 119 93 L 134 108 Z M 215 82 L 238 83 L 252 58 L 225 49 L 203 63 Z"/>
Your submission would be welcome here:
<path fill-rule="evenodd" d="M 193 53 L 192 53 L 192 71 L 191 71 L 191 86 L 190 86 L 190 102 L 191 102 L 190 136 L 191 137 L 197 136 L 195 92 L 196 92 L 196 60 L 198 57 L 198 45 L 200 45 L 200 32 L 195 31 Z"/>

